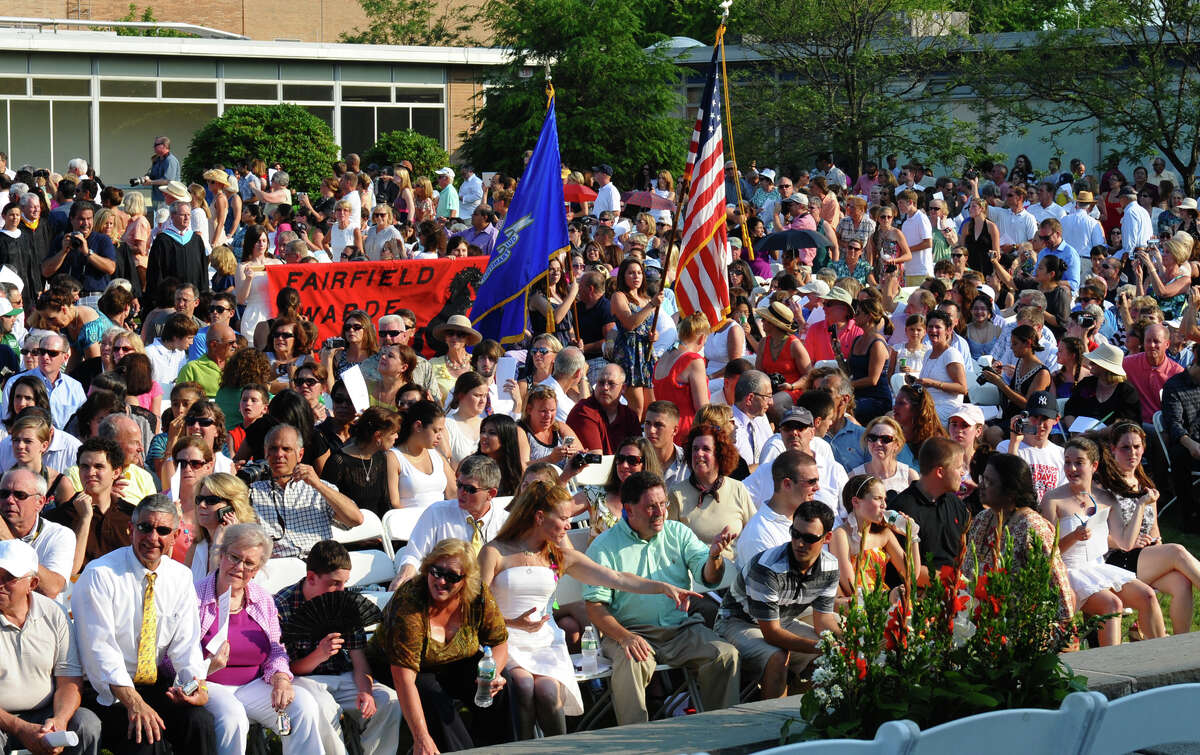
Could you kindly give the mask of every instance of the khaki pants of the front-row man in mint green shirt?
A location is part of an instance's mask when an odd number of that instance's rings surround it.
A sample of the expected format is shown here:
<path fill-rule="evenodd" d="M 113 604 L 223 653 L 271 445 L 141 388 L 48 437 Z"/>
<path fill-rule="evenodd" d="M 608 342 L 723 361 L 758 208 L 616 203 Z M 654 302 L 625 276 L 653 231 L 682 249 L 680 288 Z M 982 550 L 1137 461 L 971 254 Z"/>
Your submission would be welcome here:
<path fill-rule="evenodd" d="M 684 666 L 696 673 L 701 703 L 706 711 L 727 708 L 738 702 L 738 651 L 702 623 L 680 627 L 628 627 L 653 648 L 650 657 L 636 661 L 610 637 L 601 640 L 612 660 L 612 705 L 619 725 L 646 721 L 646 685 L 659 664 Z"/>

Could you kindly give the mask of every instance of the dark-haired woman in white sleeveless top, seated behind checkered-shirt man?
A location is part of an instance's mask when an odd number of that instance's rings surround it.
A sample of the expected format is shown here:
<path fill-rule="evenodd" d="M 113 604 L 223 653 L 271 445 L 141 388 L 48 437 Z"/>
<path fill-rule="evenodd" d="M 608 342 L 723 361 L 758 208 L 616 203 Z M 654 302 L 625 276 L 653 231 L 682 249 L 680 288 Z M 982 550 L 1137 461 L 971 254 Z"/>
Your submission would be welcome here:
<path fill-rule="evenodd" d="M 445 429 L 445 415 L 432 401 L 418 401 L 404 411 L 396 448 L 391 449 L 400 460 L 400 508 L 424 508 L 457 495 L 454 471 L 436 448 Z"/>

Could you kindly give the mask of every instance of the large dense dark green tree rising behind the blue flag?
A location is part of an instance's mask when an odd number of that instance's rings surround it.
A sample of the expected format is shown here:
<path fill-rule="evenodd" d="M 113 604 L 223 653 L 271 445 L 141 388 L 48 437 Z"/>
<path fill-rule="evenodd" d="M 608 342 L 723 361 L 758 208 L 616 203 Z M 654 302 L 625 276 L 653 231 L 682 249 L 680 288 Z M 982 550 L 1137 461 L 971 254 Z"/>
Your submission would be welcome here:
<path fill-rule="evenodd" d="M 488 76 L 464 136 L 480 168 L 520 175 L 546 112 L 544 62 L 557 96 L 558 140 L 572 167 L 613 166 L 620 180 L 644 163 L 678 168 L 686 146 L 680 72 L 644 50 L 641 20 L 623 0 L 491 0 L 493 43 L 515 50 Z"/>

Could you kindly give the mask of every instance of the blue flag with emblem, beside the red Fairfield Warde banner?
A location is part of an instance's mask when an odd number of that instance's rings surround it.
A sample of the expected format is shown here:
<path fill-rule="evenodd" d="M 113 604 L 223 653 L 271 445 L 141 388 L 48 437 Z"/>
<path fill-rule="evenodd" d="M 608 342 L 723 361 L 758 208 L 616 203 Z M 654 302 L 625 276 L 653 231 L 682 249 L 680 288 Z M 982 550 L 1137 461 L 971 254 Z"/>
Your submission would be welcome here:
<path fill-rule="evenodd" d="M 524 338 L 529 292 L 539 283 L 545 286 L 551 256 L 570 246 L 560 170 L 558 121 L 551 97 L 538 145 L 517 184 L 470 310 L 472 322 L 485 338 L 500 343 Z"/>

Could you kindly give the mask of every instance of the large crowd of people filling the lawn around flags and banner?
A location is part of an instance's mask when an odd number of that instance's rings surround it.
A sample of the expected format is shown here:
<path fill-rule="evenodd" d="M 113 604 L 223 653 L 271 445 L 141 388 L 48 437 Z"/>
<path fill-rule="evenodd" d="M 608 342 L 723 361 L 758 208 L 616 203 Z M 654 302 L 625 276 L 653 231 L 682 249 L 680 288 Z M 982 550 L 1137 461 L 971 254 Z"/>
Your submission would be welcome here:
<path fill-rule="evenodd" d="M 702 709 L 786 695 L 858 591 L 978 571 L 1002 533 L 1050 553 L 1062 621 L 1129 607 L 1159 637 L 1163 593 L 1192 629 L 1200 562 L 1160 526 L 1200 531 L 1200 227 L 1162 160 L 730 163 L 715 329 L 671 289 L 673 211 L 564 168 L 596 198 L 564 208 L 570 248 L 505 347 L 403 308 L 320 341 L 265 269 L 486 256 L 516 179 L 350 155 L 310 197 L 257 160 L 188 186 L 154 148 L 149 202 L 83 160 L 0 162 L 0 747 L 551 736 L 583 713 L 592 633 L 617 724 L 671 693 L 659 664 Z M 394 510 L 376 630 L 290 631 L 350 586 L 335 531 Z M 272 594 L 272 558 L 305 575 Z M 559 605 L 564 575 L 584 587 Z M 1110 618 L 1092 641 L 1121 640 Z"/>

